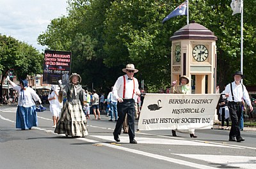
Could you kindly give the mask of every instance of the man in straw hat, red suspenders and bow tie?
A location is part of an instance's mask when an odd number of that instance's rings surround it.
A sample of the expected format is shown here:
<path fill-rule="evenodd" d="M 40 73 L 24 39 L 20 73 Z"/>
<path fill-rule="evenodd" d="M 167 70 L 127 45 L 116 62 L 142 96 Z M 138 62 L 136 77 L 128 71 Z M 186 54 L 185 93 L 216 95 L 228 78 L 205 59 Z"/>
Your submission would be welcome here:
<path fill-rule="evenodd" d="M 137 78 L 133 76 L 134 73 L 138 72 L 138 70 L 134 68 L 134 64 L 127 64 L 126 68 L 124 68 L 122 71 L 124 71 L 126 75 L 118 77 L 113 87 L 113 97 L 118 101 L 118 120 L 116 122 L 116 127 L 113 135 L 116 142 L 120 142 L 118 135 L 121 134 L 122 125 L 125 120 L 125 115 L 127 114 L 129 124 L 128 134 L 130 143 L 137 143 L 134 139 L 134 94 L 139 95 L 140 89 Z"/>

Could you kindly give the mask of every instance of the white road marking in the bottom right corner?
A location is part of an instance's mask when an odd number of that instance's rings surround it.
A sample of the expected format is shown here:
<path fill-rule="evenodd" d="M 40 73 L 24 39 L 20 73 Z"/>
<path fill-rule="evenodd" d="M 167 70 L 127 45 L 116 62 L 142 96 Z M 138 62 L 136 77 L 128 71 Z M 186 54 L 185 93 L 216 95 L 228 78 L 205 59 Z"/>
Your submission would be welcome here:
<path fill-rule="evenodd" d="M 186 158 L 200 159 L 216 165 L 218 168 L 256 168 L 256 157 L 250 156 L 225 156 L 207 154 L 174 154 Z"/>

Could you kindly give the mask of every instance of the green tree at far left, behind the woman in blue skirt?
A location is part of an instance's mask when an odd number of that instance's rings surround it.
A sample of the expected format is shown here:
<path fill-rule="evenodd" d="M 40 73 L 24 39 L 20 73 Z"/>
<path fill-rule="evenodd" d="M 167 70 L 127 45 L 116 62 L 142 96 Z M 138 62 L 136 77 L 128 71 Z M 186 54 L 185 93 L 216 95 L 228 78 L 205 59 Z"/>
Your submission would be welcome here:
<path fill-rule="evenodd" d="M 11 36 L 0 34 L 0 70 L 2 75 L 0 96 L 2 96 L 3 77 L 8 75 L 9 70 L 13 70 L 18 79 L 42 73 L 43 57 L 44 55 L 31 45 L 15 40 Z"/>

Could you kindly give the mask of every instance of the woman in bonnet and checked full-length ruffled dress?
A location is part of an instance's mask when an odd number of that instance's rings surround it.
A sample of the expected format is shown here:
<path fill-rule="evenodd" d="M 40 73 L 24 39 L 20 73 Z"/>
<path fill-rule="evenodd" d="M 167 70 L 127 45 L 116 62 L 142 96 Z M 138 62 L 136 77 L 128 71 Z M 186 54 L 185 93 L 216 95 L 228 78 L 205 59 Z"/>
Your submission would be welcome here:
<path fill-rule="evenodd" d="M 67 97 L 61 110 L 54 133 L 66 136 L 82 137 L 88 135 L 86 117 L 83 112 L 83 89 L 80 85 L 82 78 L 77 73 L 72 73 L 69 83 L 60 91 Z"/>

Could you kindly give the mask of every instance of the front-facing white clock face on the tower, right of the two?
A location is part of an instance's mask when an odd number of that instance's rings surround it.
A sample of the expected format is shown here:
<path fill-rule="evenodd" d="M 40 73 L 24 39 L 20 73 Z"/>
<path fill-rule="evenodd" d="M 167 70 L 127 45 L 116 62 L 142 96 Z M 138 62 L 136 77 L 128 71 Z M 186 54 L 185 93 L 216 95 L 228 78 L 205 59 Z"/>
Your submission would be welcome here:
<path fill-rule="evenodd" d="M 205 45 L 196 45 L 192 52 L 193 58 L 198 62 L 204 62 L 208 57 L 208 49 Z"/>

